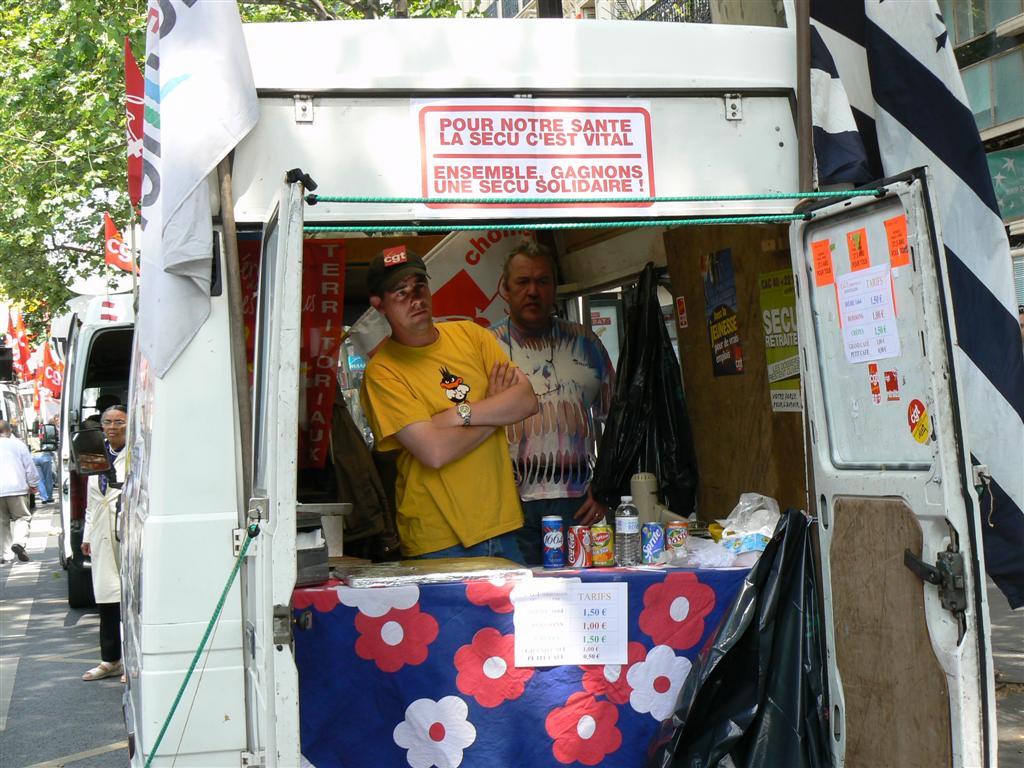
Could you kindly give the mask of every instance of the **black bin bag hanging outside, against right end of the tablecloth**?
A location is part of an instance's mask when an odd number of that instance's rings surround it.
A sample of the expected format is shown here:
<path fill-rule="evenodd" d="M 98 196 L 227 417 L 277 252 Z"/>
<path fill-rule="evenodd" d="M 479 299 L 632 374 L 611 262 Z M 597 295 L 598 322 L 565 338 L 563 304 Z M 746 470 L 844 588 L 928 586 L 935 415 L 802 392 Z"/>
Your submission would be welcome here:
<path fill-rule="evenodd" d="M 786 510 L 700 651 L 647 768 L 831 766 L 812 521 Z"/>

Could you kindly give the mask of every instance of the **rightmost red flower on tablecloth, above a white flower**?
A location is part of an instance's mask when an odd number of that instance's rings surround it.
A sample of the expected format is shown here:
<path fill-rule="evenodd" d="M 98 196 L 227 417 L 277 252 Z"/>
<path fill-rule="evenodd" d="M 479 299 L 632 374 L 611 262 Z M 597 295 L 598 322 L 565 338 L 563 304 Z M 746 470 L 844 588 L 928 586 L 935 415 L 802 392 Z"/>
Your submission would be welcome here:
<path fill-rule="evenodd" d="M 680 571 L 648 587 L 643 604 L 640 629 L 655 645 L 686 650 L 703 635 L 705 616 L 715 607 L 715 590 L 700 584 L 695 573 Z"/>

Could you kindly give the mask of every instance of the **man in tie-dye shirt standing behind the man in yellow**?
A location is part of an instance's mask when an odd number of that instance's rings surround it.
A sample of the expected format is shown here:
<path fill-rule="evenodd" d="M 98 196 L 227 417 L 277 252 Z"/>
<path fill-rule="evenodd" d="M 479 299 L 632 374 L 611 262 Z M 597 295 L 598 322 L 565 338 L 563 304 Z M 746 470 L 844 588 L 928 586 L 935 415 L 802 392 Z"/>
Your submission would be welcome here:
<path fill-rule="evenodd" d="M 591 495 L 597 446 L 595 424 L 611 402 L 614 371 L 604 345 L 578 323 L 554 316 L 555 265 L 543 246 L 526 241 L 505 261 L 500 291 L 509 317 L 498 337 L 534 385 L 540 411 L 505 428 L 524 524 L 519 548 L 530 565 L 541 563 L 541 518 L 591 525 L 608 513 Z"/>

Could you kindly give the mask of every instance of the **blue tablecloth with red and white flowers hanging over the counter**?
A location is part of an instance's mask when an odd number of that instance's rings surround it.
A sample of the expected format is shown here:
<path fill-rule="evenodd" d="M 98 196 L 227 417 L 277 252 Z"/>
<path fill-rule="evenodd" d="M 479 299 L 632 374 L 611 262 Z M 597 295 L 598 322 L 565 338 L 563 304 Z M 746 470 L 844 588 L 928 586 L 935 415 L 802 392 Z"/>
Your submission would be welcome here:
<path fill-rule="evenodd" d="M 745 568 L 599 568 L 629 585 L 629 664 L 516 669 L 512 583 L 296 590 L 315 768 L 637 768 Z"/>

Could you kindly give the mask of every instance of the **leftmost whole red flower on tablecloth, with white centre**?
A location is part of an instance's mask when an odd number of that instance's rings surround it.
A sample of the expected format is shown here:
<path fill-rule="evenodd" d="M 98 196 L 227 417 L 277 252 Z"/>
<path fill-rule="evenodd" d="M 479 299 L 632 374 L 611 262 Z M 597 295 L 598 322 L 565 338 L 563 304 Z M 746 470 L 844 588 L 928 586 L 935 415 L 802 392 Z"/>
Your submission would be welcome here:
<path fill-rule="evenodd" d="M 355 614 L 355 653 L 374 662 L 382 672 L 397 672 L 407 664 L 416 666 L 427 659 L 427 646 L 437 639 L 437 620 L 412 608 L 392 608 L 382 616 Z"/>

